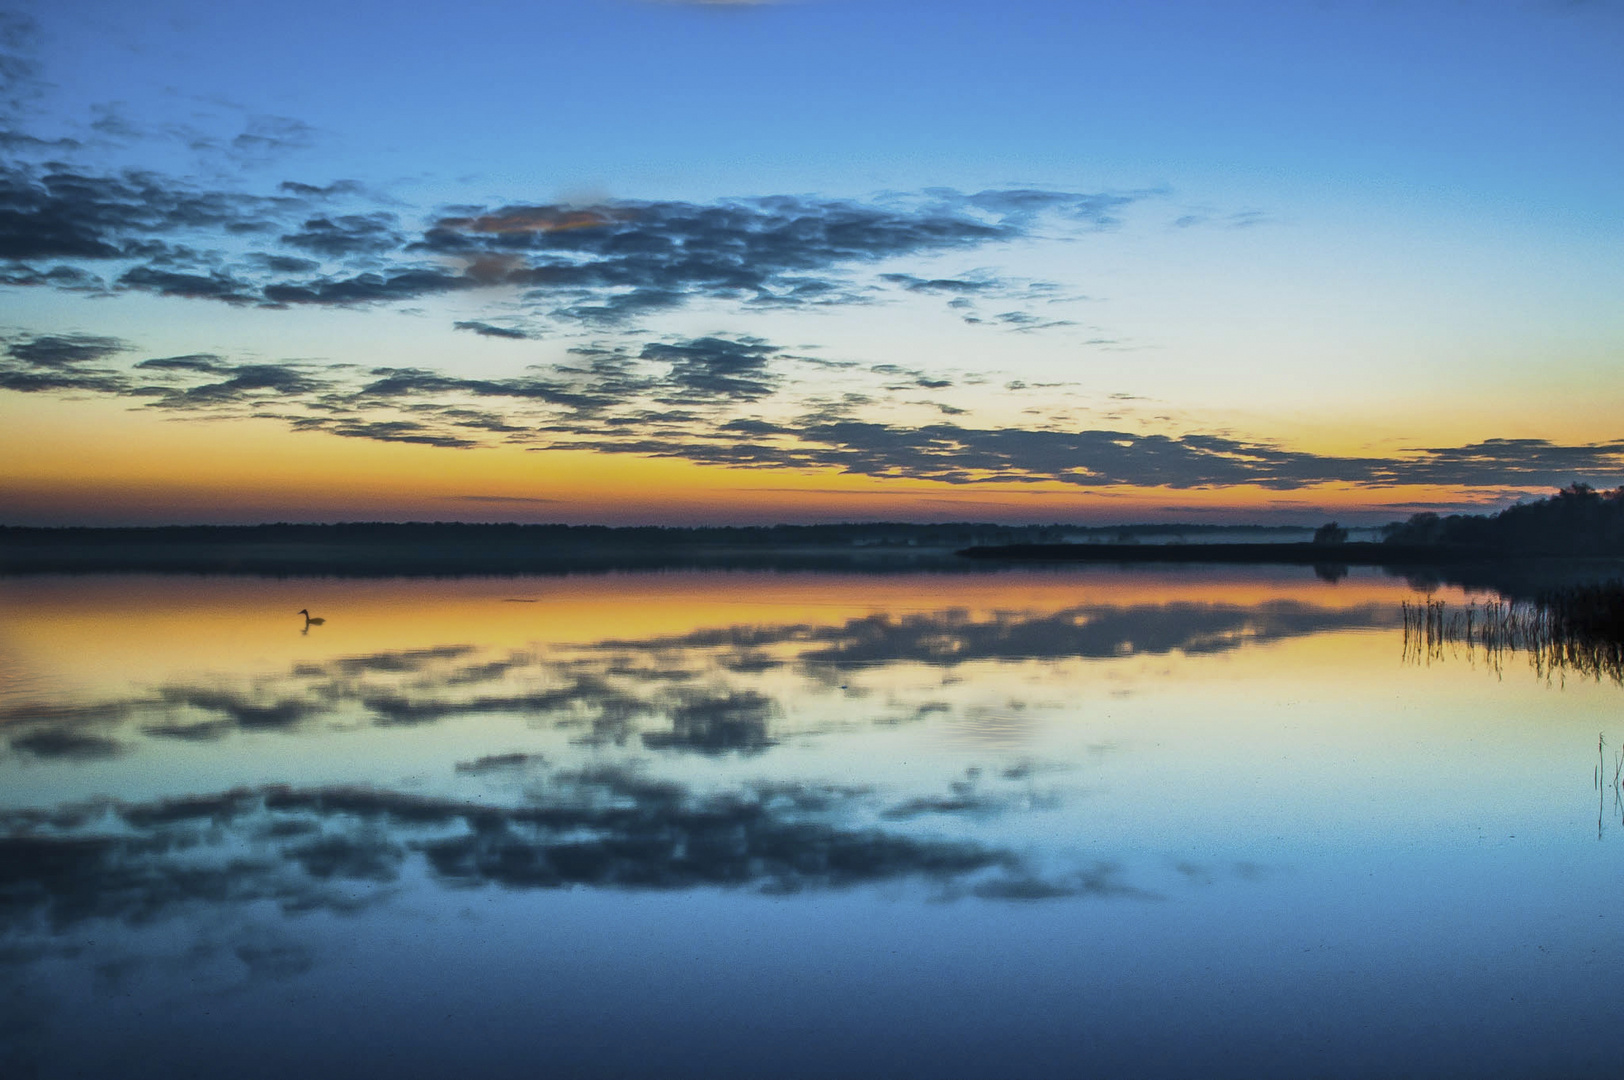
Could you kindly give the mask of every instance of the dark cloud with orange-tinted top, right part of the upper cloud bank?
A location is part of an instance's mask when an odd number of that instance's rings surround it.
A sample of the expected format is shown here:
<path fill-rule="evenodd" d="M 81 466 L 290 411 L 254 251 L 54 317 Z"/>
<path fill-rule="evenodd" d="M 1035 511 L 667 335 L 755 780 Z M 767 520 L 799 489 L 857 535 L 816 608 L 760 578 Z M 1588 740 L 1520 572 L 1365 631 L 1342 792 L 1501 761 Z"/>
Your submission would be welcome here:
<path fill-rule="evenodd" d="M 908 255 L 1020 239 L 1043 214 L 1114 224 L 1132 197 L 927 192 L 911 201 L 771 197 L 721 203 L 508 205 L 443 216 L 409 250 L 468 260 L 469 273 L 528 286 L 555 313 L 624 322 L 692 297 L 755 305 L 854 302 L 841 271 Z M 570 291 L 581 299 L 565 299 Z"/>

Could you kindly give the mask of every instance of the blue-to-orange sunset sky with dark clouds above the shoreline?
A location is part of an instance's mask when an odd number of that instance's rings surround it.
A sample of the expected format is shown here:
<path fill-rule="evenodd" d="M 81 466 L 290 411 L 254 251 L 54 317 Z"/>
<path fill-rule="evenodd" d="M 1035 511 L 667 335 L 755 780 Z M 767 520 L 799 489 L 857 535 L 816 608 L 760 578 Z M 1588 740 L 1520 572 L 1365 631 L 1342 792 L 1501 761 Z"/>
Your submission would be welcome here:
<path fill-rule="evenodd" d="M 0 525 L 1624 484 L 1624 3 L 0 8 Z"/>

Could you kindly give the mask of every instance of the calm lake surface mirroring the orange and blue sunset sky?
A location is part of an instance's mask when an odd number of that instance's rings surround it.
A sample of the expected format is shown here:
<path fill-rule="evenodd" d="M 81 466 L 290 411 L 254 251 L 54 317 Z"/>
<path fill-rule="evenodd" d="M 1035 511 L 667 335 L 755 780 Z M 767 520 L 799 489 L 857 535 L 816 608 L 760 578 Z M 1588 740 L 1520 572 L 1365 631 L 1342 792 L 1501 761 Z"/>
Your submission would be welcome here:
<path fill-rule="evenodd" d="M 1611 1072 L 1624 692 L 1413 598 L 0 580 L 0 1075 Z"/>

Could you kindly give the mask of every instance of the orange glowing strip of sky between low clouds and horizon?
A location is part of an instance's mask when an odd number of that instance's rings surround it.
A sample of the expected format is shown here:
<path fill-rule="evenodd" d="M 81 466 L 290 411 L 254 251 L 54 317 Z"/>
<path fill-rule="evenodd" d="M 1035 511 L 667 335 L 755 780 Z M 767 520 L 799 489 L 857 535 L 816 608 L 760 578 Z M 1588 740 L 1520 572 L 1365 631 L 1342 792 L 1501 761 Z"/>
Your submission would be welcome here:
<path fill-rule="evenodd" d="M 1432 487 L 1296 492 L 932 484 L 831 469 L 724 469 L 590 451 L 442 450 L 271 421 L 172 421 L 107 401 L 16 396 L 0 413 L 0 523 L 849 520 L 1294 521 L 1405 516 L 1457 502 Z"/>

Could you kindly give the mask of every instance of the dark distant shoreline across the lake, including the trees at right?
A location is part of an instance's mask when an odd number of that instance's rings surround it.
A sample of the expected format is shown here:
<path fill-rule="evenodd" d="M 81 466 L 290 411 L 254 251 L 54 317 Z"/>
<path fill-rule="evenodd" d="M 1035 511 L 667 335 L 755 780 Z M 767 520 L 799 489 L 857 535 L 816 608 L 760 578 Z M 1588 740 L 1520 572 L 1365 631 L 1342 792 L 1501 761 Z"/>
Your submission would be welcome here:
<path fill-rule="evenodd" d="M 1371 539 L 1350 539 L 1351 534 Z M 1380 538 L 1380 539 L 1376 539 Z M 1496 515 L 1418 513 L 1382 529 L 846 523 L 778 526 L 201 525 L 0 526 L 0 573 L 564 573 L 638 568 L 971 568 L 994 564 L 1382 567 L 1531 599 L 1543 581 L 1624 568 L 1624 487 L 1583 484 Z"/>

